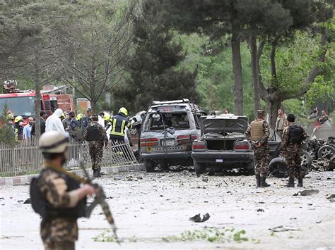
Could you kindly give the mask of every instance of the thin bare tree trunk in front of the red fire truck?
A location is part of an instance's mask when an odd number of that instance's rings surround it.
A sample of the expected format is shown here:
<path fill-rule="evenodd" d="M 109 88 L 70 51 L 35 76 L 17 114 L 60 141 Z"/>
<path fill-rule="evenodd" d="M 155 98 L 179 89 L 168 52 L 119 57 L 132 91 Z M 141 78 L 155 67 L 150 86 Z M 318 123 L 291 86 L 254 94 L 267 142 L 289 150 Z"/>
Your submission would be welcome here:
<path fill-rule="evenodd" d="M 38 52 L 37 52 L 38 53 Z M 41 125 L 40 125 L 40 100 L 42 99 L 41 96 L 41 82 L 40 82 L 40 68 L 38 65 L 38 54 L 35 54 L 35 72 L 34 72 L 34 78 L 35 78 L 35 137 L 40 138 L 41 136 Z"/>

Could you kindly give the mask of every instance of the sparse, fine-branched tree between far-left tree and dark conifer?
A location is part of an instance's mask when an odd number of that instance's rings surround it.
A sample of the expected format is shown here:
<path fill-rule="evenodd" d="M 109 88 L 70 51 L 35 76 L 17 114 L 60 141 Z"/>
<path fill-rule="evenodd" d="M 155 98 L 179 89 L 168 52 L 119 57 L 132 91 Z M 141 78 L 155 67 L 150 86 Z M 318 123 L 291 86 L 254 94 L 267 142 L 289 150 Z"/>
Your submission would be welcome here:
<path fill-rule="evenodd" d="M 110 92 L 122 80 L 129 65 L 134 35 L 132 16 L 136 1 L 83 1 L 74 4 L 76 11 L 66 33 L 57 35 L 67 50 L 62 58 L 64 79 L 90 100 L 93 111 L 102 94 Z"/>

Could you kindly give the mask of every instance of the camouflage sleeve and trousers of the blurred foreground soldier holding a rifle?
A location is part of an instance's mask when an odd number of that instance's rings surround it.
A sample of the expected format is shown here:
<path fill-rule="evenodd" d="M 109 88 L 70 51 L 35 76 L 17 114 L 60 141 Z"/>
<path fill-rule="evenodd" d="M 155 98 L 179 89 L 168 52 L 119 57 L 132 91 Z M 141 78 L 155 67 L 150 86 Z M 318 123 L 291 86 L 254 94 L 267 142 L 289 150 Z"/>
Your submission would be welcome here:
<path fill-rule="evenodd" d="M 74 192 L 67 192 L 68 187 L 61 173 L 47 168 L 38 184 L 42 194 L 54 208 L 76 206 L 78 198 Z M 53 217 L 42 220 L 41 237 L 45 249 L 74 249 L 74 242 L 78 239 L 76 218 Z"/>

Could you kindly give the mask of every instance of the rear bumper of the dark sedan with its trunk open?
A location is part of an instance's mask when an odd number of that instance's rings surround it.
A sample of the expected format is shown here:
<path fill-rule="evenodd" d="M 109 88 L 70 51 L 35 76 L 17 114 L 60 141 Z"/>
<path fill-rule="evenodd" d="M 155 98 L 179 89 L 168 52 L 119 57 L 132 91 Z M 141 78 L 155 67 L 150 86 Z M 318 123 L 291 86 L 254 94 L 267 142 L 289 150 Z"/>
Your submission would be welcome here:
<path fill-rule="evenodd" d="M 192 158 L 197 163 L 211 163 L 211 164 L 230 164 L 230 163 L 241 163 L 249 164 L 254 161 L 253 152 L 192 152 Z"/>

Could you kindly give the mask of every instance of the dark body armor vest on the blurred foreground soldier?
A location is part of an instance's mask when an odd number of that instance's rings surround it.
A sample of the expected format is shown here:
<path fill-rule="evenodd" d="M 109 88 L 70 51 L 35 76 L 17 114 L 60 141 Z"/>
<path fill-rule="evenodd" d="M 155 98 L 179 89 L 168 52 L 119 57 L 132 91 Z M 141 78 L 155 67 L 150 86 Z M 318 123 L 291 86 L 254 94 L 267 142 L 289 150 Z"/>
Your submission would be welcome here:
<path fill-rule="evenodd" d="M 49 204 L 49 202 L 45 198 L 45 194 L 42 193 L 39 185 L 39 180 L 45 170 L 47 170 L 47 168 L 43 169 L 40 175 L 38 175 L 37 177 L 33 177 L 30 182 L 30 199 L 31 205 L 33 206 L 33 210 L 35 211 L 35 213 L 40 214 L 42 220 L 59 217 L 77 219 L 85 216 L 86 198 L 78 201 L 78 204 L 74 208 L 54 208 L 52 204 Z M 69 177 L 64 173 L 60 173 L 57 170 L 52 170 L 57 172 L 65 180 L 66 186 L 68 187 L 66 192 L 78 189 L 80 187 L 80 183 L 78 182 L 78 180 L 75 180 L 74 178 Z"/>

